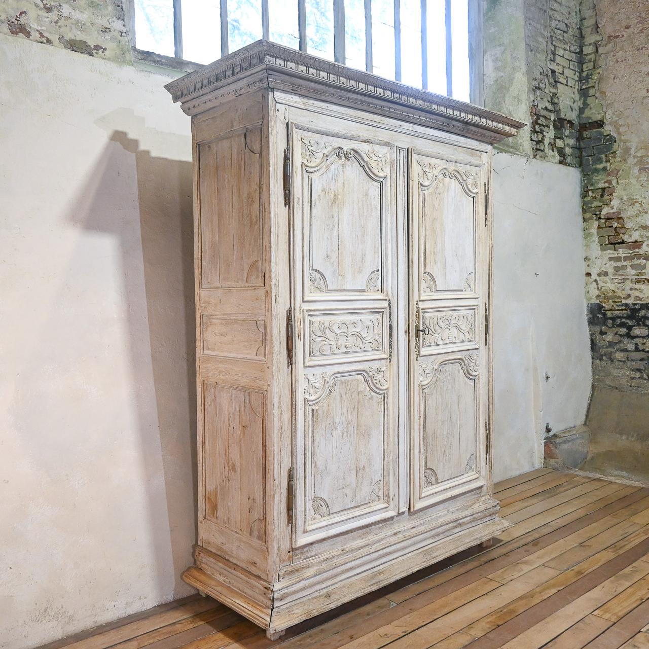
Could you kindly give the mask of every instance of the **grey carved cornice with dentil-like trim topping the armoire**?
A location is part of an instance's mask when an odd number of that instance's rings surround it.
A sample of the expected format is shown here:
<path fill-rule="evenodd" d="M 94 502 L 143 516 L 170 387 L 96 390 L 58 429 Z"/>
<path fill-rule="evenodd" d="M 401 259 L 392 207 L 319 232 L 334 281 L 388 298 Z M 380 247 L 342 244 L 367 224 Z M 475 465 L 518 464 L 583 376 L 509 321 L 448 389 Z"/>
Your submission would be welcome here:
<path fill-rule="evenodd" d="M 378 99 L 391 103 L 402 104 L 421 112 L 469 123 L 480 129 L 495 132 L 500 135 L 500 138 L 496 139 L 513 136 L 525 125 L 516 119 L 491 112 L 480 106 L 472 106 L 443 95 L 411 88 L 396 81 L 382 79 L 367 72 L 263 40 L 251 43 L 200 70 L 173 80 L 165 88 L 171 93 L 173 101 L 190 101 L 217 87 L 227 85 L 230 80 L 248 75 L 256 69 L 280 71 L 291 77 L 329 88 L 337 87 L 341 92 L 374 95 Z M 299 84 L 295 86 L 295 92 L 299 93 Z M 335 95 L 332 95 L 332 98 L 334 97 Z"/>

